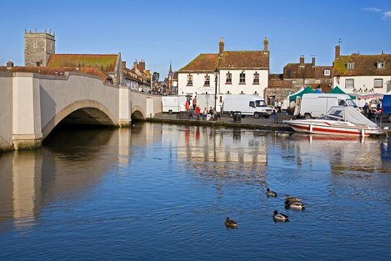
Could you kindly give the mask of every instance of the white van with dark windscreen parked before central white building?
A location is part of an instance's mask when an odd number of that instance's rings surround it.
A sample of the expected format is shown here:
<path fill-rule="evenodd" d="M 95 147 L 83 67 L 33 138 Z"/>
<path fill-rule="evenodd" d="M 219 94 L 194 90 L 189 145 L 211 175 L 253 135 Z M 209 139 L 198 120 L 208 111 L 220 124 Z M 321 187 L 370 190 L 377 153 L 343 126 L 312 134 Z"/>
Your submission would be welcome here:
<path fill-rule="evenodd" d="M 230 117 L 233 117 L 234 111 L 240 111 L 242 116 L 252 115 L 254 118 L 260 118 L 260 116 L 269 118 L 273 110 L 259 95 L 226 95 L 223 102 L 223 113 L 228 113 Z"/>

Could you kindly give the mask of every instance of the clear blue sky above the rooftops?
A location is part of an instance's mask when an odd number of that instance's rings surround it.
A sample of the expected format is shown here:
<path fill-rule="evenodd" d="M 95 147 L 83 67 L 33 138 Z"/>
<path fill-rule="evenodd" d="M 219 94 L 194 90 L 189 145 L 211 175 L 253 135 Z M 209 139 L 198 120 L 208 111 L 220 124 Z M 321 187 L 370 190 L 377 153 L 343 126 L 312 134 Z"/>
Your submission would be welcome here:
<path fill-rule="evenodd" d="M 391 54 L 391 1 L 1 1 L 0 65 L 24 65 L 24 29 L 56 31 L 57 54 L 121 52 L 130 66 L 145 59 L 161 79 L 202 53 L 262 50 L 281 73 L 301 54 L 331 65 L 341 54 Z M 128 67 L 129 67 L 128 66 Z"/>

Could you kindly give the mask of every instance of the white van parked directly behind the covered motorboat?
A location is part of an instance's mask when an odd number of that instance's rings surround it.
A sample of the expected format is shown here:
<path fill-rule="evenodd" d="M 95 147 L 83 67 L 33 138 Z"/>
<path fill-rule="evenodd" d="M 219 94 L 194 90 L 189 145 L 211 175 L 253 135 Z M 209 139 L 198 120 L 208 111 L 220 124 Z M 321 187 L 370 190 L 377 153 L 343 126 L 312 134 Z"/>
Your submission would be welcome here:
<path fill-rule="evenodd" d="M 331 106 L 353 106 L 358 109 L 351 97 L 340 93 L 305 93 L 301 100 L 296 101 L 298 109 L 295 115 L 305 118 L 317 118 L 331 108 Z"/>

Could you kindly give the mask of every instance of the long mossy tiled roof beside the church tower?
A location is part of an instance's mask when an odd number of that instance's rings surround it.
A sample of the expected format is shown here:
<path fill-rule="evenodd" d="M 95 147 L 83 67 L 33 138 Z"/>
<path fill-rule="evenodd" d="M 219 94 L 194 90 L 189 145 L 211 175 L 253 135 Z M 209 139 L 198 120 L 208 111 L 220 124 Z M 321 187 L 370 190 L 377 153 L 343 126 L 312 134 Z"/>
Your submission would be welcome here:
<path fill-rule="evenodd" d="M 51 54 L 47 67 L 95 67 L 113 72 L 117 54 Z"/>

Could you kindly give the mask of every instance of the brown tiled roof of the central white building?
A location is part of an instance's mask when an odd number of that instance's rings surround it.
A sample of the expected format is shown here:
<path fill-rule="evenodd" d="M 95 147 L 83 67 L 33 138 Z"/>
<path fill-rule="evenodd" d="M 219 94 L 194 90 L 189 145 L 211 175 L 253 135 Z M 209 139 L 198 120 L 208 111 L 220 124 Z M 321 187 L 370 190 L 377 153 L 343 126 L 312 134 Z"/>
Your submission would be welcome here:
<path fill-rule="evenodd" d="M 200 54 L 178 72 L 213 72 L 219 69 L 269 69 L 269 53 L 261 51 L 225 51 L 218 64 L 218 54 Z"/>

